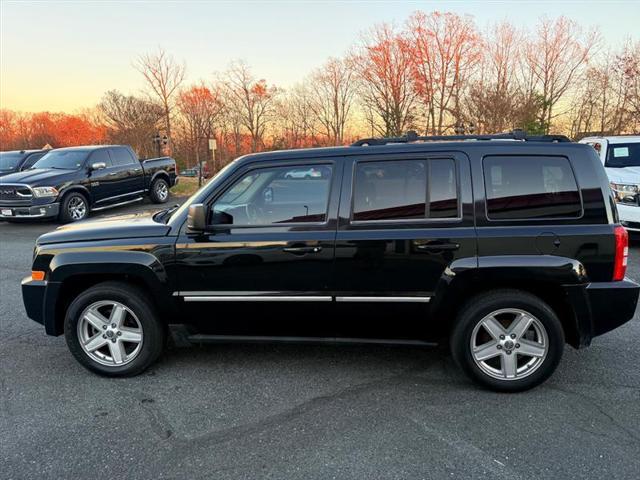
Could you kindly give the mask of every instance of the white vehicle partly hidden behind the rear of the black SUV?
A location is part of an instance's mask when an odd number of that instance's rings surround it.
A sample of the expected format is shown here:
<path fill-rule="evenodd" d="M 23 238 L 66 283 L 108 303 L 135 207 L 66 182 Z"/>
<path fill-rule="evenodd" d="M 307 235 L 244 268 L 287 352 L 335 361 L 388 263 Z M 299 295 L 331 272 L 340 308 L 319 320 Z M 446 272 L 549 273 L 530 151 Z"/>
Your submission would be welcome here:
<path fill-rule="evenodd" d="M 640 232 L 640 136 L 586 137 L 604 164 L 613 189 L 620 223 Z"/>

